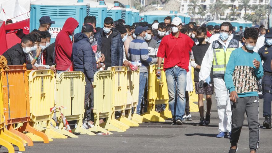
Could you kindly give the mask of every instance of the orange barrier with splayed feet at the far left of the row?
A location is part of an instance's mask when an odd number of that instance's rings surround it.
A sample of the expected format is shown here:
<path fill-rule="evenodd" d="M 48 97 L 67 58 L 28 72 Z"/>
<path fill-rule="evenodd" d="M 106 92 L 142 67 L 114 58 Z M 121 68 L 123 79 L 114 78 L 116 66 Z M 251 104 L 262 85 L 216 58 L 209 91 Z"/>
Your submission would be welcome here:
<path fill-rule="evenodd" d="M 33 146 L 32 139 L 22 132 L 28 131 L 43 138 L 45 143 L 49 143 L 47 136 L 29 125 L 29 95 L 28 95 L 28 77 L 26 66 L 9 66 L 10 70 L 1 71 L 2 90 L 5 118 L 7 129 L 25 140 L 28 146 Z M 22 126 L 14 129 L 14 124 L 22 123 Z"/>

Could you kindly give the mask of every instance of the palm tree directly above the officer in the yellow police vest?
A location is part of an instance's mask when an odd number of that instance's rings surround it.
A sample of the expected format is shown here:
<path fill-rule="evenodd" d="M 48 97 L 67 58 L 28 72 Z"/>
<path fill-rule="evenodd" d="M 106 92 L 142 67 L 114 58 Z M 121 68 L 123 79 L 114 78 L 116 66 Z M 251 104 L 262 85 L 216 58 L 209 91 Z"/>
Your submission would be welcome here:
<path fill-rule="evenodd" d="M 215 3 L 210 4 L 210 15 L 215 17 L 215 19 L 220 19 L 225 14 L 227 8 L 226 4 L 223 4 L 221 0 L 217 0 Z"/>

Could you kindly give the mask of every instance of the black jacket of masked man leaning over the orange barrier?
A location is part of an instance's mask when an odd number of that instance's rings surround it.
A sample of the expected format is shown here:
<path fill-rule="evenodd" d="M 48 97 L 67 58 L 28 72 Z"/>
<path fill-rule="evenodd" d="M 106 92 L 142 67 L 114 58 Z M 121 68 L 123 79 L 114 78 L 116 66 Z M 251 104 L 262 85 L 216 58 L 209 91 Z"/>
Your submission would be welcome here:
<path fill-rule="evenodd" d="M 26 62 L 27 53 L 23 52 L 23 48 L 20 43 L 12 46 L 10 49 L 3 53 L 6 57 L 7 65 L 23 65 Z M 27 70 L 31 70 L 32 65 L 27 64 Z"/>

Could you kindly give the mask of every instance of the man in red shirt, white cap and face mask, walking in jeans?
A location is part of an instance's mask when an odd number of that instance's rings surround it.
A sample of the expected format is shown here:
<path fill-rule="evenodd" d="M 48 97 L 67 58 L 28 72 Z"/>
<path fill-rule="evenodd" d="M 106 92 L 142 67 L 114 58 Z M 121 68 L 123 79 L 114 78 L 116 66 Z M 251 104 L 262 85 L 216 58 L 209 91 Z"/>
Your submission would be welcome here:
<path fill-rule="evenodd" d="M 172 33 L 164 36 L 159 45 L 156 75 L 160 76 L 161 74 L 160 67 L 164 58 L 164 71 L 168 86 L 169 105 L 174 119 L 173 123 L 182 125 L 185 113 L 185 89 L 186 74 L 189 71 L 189 52 L 191 52 L 195 44 L 190 37 L 180 32 L 182 26 L 181 18 L 175 17 L 171 25 Z"/>

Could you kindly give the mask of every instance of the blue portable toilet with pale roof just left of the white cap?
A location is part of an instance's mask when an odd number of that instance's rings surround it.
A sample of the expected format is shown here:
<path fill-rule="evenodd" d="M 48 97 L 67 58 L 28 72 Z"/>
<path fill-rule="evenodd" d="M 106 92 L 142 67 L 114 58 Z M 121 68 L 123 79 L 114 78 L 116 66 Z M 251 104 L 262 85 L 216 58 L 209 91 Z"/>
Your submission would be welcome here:
<path fill-rule="evenodd" d="M 158 20 L 160 22 L 164 22 L 164 18 L 169 16 L 169 11 L 162 11 L 162 10 L 156 10 L 156 11 L 148 11 L 141 13 L 141 15 L 144 16 L 144 21 L 148 23 L 153 23 L 154 20 Z M 171 15 L 171 14 L 170 14 Z"/>

